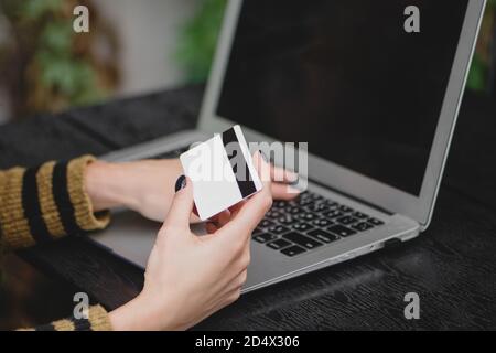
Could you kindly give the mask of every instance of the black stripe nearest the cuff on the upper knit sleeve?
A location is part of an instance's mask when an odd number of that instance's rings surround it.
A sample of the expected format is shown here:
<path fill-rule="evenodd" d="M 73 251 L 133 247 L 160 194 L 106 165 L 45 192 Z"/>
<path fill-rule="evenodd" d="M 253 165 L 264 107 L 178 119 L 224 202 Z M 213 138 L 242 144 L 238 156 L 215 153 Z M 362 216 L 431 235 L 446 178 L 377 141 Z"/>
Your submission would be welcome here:
<path fill-rule="evenodd" d="M 53 169 L 53 199 L 61 215 L 61 222 L 67 235 L 82 233 L 74 215 L 74 205 L 67 190 L 67 162 L 55 164 Z"/>

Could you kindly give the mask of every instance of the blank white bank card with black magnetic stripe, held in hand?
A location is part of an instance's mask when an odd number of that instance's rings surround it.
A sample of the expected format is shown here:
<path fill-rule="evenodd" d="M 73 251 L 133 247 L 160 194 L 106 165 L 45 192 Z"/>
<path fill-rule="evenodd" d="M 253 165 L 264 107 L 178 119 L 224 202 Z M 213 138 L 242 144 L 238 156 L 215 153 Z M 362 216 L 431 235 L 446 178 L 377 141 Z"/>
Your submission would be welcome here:
<path fill-rule="evenodd" d="M 239 126 L 192 148 L 180 159 L 185 175 L 193 182 L 196 212 L 202 221 L 262 189 Z"/>

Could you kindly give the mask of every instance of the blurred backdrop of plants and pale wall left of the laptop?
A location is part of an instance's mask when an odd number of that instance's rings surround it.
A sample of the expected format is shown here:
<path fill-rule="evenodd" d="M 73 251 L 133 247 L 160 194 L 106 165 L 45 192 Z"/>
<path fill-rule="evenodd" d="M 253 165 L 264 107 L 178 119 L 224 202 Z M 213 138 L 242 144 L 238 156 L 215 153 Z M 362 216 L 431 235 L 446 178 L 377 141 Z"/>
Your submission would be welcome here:
<path fill-rule="evenodd" d="M 88 7 L 90 32 L 73 31 Z M 204 82 L 226 0 L 0 0 L 0 124 Z"/>

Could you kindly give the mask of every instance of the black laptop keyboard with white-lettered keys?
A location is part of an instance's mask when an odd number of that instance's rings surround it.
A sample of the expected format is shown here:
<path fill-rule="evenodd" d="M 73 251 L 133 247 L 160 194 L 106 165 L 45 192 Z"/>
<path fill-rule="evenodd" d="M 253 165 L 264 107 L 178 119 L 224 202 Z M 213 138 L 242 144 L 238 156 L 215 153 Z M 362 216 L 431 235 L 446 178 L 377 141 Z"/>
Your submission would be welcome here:
<path fill-rule="evenodd" d="M 378 218 L 305 191 L 294 201 L 274 201 L 252 239 L 293 257 L 380 225 Z"/>

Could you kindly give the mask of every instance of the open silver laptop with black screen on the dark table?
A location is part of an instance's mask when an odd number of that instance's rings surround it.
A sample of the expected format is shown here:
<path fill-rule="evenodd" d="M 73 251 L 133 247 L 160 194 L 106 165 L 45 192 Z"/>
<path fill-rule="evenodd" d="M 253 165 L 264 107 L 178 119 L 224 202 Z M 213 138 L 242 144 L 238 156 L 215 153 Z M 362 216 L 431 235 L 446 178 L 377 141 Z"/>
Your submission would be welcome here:
<path fill-rule="evenodd" d="M 484 8 L 230 0 L 197 128 L 103 159 L 176 158 L 234 125 L 308 142 L 308 188 L 255 231 L 242 292 L 408 242 L 432 217 Z M 144 268 L 159 228 L 119 210 L 91 239 Z"/>

